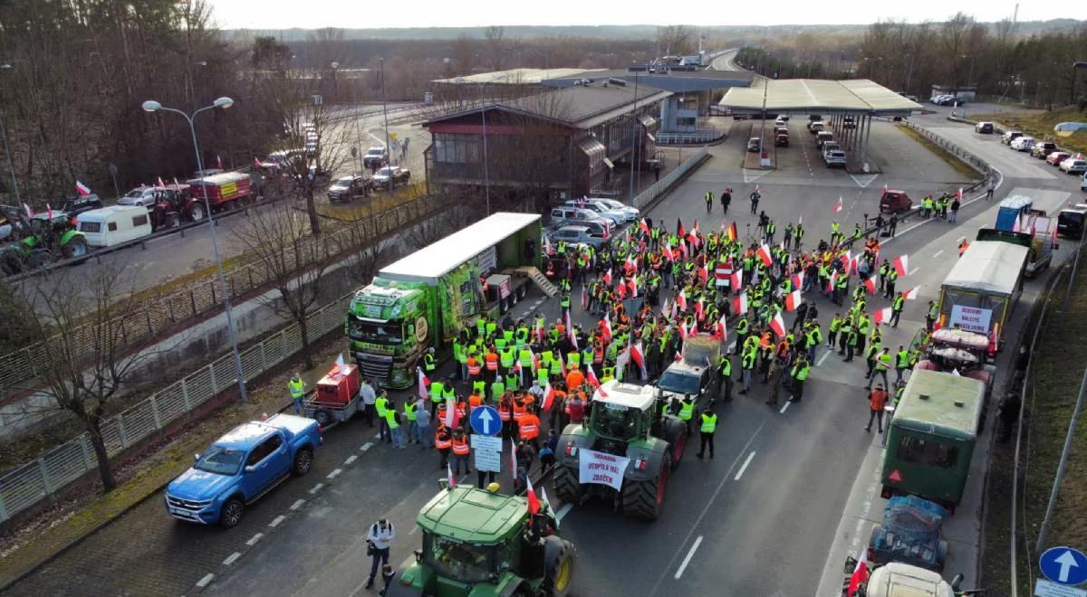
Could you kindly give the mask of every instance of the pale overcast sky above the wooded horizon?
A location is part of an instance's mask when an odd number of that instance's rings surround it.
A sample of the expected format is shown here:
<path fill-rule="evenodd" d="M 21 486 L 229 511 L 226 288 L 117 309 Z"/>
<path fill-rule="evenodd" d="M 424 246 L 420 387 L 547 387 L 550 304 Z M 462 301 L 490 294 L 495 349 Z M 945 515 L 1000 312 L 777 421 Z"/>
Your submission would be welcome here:
<path fill-rule="evenodd" d="M 209 0 L 216 22 L 225 28 L 287 29 L 291 27 L 475 27 L 486 25 L 784 25 L 867 24 L 879 18 L 939 21 L 955 11 L 978 21 L 1011 17 L 1015 2 L 991 0 L 778 0 L 764 2 L 696 1 L 670 4 L 660 0 L 585 2 L 584 0 Z M 546 7 L 546 10 L 541 10 Z M 888 12 L 888 11 L 896 11 Z M 1082 0 L 1021 2 L 1020 21 L 1087 18 Z"/>

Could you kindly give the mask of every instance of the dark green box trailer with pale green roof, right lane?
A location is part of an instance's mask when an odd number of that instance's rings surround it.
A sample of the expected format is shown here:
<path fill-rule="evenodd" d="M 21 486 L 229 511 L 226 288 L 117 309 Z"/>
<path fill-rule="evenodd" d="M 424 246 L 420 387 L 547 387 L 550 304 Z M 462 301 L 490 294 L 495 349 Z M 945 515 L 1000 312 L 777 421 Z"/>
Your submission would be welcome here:
<path fill-rule="evenodd" d="M 912 494 L 954 511 L 970 474 L 985 383 L 914 369 L 887 428 L 883 496 Z"/>

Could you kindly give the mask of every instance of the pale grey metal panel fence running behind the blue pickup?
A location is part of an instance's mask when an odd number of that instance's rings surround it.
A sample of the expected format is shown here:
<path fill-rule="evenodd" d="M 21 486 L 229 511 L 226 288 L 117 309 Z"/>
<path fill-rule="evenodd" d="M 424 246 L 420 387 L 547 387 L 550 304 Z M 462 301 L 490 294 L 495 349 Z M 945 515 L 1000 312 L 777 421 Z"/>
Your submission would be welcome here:
<path fill-rule="evenodd" d="M 310 338 L 342 327 L 343 314 L 353 294 L 346 294 L 311 314 L 308 318 Z M 241 353 L 242 374 L 247 381 L 252 380 L 301 348 L 298 323 L 291 323 Z M 226 355 L 107 420 L 102 424 L 102 436 L 110 457 L 165 429 L 236 382 L 234 359 Z M 93 448 L 84 433 L 0 477 L 0 522 L 33 507 L 97 466 Z"/>

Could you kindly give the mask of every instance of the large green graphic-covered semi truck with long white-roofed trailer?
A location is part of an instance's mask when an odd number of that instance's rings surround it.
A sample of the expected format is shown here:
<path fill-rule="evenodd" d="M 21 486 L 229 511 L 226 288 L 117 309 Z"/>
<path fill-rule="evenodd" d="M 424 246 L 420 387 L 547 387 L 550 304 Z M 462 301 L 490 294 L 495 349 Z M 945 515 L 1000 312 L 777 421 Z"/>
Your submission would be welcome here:
<path fill-rule="evenodd" d="M 539 238 L 538 215 L 502 212 L 383 268 L 347 314 L 359 368 L 386 386 L 411 385 L 424 352 L 440 353 L 480 316 L 493 320 L 524 297 L 525 271 L 539 265 L 525 249 Z"/>

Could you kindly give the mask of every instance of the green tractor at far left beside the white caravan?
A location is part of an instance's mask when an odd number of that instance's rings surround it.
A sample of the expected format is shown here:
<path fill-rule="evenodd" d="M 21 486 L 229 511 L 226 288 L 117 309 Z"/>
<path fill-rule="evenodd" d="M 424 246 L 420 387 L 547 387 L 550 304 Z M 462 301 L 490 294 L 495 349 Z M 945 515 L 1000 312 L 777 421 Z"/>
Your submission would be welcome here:
<path fill-rule="evenodd" d="M 4 207 L 12 225 L 12 242 L 0 245 L 0 272 L 13 275 L 37 269 L 61 259 L 79 259 L 90 252 L 83 232 L 67 214 L 49 212 L 27 216 L 16 207 Z"/>

